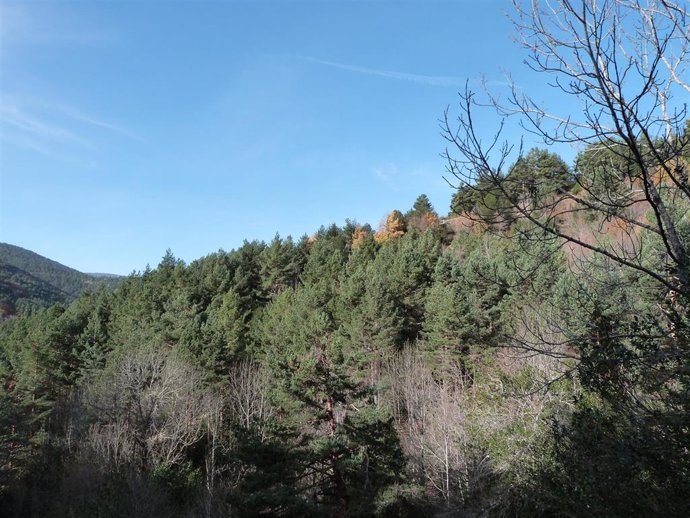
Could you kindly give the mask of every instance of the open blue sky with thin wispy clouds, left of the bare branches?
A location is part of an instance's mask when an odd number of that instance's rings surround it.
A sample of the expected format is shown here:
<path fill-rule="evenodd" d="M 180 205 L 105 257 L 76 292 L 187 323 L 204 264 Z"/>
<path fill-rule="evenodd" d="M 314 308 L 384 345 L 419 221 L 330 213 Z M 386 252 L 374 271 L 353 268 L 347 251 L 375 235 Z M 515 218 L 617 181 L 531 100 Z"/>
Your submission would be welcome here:
<path fill-rule="evenodd" d="M 502 70 L 531 86 L 509 10 L 3 2 L 0 241 L 126 274 L 421 193 L 445 214 L 444 108 Z"/>

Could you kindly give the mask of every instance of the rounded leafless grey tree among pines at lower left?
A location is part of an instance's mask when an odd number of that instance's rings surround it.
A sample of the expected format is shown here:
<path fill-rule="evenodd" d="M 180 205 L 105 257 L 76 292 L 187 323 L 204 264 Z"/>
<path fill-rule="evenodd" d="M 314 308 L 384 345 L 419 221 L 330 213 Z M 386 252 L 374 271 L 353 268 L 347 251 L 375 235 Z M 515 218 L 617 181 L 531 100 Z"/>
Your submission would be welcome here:
<path fill-rule="evenodd" d="M 215 408 L 202 387 L 199 374 L 170 352 L 127 354 L 86 396 L 96 421 L 90 447 L 113 466 L 140 472 L 180 463 Z"/>

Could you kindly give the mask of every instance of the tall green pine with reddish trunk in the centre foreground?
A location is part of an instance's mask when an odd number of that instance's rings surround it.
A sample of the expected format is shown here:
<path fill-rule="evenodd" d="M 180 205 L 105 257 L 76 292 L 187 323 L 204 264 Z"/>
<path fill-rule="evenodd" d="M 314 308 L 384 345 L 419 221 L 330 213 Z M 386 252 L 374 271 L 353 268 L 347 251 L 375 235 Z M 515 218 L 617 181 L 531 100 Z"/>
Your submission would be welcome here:
<path fill-rule="evenodd" d="M 296 476 L 313 488 L 305 497 L 311 494 L 320 514 L 362 512 L 399 480 L 390 414 L 372 407 L 367 390 L 348 375 L 331 316 L 310 288 L 280 294 L 264 315 L 261 336 L 283 425 L 301 431 L 294 448 L 303 465 Z"/>

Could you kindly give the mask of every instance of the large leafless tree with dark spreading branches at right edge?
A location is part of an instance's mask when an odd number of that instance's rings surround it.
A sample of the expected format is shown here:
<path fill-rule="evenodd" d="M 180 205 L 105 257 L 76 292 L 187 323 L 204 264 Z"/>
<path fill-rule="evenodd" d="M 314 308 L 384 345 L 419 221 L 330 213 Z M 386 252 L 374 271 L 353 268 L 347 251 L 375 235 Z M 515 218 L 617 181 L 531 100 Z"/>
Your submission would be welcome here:
<path fill-rule="evenodd" d="M 637 296 L 653 309 L 644 328 L 630 320 L 614 329 L 607 317 L 578 327 L 573 323 L 584 313 L 564 322 L 549 301 L 539 300 L 532 308 L 539 325 L 517 315 L 522 325 L 506 345 L 561 361 L 546 386 L 591 367 L 598 380 L 617 380 L 606 383 L 611 394 L 623 390 L 621 401 L 647 410 L 658 397 L 682 401 L 685 382 L 660 380 L 687 380 L 690 358 L 687 6 L 673 0 L 513 3 L 526 64 L 545 76 L 561 102 L 544 106 L 512 80 L 507 96 L 466 87 L 457 117 L 446 110 L 441 121 L 447 169 L 465 200 L 456 206 L 534 256 L 533 267 L 515 265 L 519 282 L 529 282 L 547 256 L 564 249 L 575 276 L 589 272 L 580 277 L 587 290 L 610 298 L 635 279 Z M 478 113 L 498 119 L 488 139 L 475 123 Z M 524 177 L 510 166 L 522 160 L 522 142 L 503 137 L 513 121 L 546 145 L 579 149 L 570 183 L 554 184 L 546 171 L 530 179 L 525 194 Z M 622 368 L 651 390 L 648 397 L 619 375 Z"/>

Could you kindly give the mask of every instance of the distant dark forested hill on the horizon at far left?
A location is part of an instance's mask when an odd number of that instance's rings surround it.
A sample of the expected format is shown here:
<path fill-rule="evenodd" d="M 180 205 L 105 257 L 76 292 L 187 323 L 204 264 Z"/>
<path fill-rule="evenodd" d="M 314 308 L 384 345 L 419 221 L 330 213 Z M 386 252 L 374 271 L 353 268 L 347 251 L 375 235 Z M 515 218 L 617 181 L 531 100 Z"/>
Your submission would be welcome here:
<path fill-rule="evenodd" d="M 116 286 L 121 277 L 86 274 L 24 248 L 0 243 L 0 318 L 69 303 L 88 288 Z"/>

